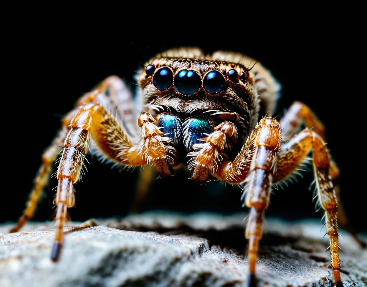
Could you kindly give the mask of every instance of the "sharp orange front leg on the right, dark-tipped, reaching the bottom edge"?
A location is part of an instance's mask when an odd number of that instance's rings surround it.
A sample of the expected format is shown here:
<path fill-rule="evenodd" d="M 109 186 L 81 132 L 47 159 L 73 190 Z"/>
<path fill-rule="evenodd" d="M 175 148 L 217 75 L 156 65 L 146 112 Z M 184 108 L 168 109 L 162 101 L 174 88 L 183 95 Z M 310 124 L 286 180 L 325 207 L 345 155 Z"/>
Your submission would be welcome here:
<path fill-rule="evenodd" d="M 276 119 L 263 118 L 255 127 L 235 160 L 222 161 L 214 174 L 231 184 L 247 184 L 245 204 L 250 208 L 245 236 L 248 239 L 249 276 L 247 286 L 255 286 L 255 265 L 265 209 L 270 202 L 276 154 L 280 148 L 280 125 Z"/>

